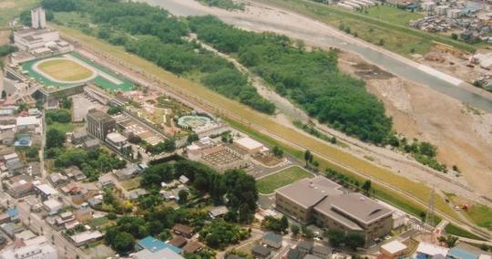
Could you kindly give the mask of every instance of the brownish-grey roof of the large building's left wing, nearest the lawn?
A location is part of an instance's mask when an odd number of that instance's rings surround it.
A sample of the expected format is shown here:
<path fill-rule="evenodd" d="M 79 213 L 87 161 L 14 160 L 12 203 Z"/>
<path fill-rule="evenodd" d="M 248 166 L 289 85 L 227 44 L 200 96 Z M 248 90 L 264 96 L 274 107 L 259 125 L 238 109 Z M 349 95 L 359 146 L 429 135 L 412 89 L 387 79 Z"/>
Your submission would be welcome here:
<path fill-rule="evenodd" d="M 296 181 L 277 189 L 276 192 L 304 208 L 310 208 L 321 202 L 326 196 L 341 195 L 343 192 L 340 187 L 339 184 L 323 176 L 316 176 L 312 179 Z"/>

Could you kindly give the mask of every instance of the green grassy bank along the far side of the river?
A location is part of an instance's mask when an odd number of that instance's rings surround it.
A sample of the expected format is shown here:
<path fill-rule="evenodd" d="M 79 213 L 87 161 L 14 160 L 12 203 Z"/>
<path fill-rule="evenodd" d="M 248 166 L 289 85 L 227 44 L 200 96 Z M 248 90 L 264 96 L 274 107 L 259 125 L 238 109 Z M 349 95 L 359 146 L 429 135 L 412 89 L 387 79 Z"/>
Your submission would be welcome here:
<path fill-rule="evenodd" d="M 377 7 L 370 8 L 368 14 L 365 15 L 364 13 L 357 13 L 333 5 L 315 3 L 310 0 L 257 1 L 277 5 L 302 15 L 313 17 L 337 28 L 341 25 L 349 26 L 351 34 L 356 34 L 356 36 L 365 41 L 376 45 L 382 40 L 384 42 L 382 47 L 407 57 L 413 53 L 425 54 L 430 50 L 434 42 L 444 43 L 470 52 L 479 47 L 453 40 L 450 36 L 427 33 L 402 25 L 409 17 L 413 16 L 405 16 L 400 19 L 397 13 L 402 15 L 402 12 L 405 11 L 391 9 L 394 8 L 391 6 L 380 6 L 379 8 L 383 8 L 381 10 L 373 9 Z"/>

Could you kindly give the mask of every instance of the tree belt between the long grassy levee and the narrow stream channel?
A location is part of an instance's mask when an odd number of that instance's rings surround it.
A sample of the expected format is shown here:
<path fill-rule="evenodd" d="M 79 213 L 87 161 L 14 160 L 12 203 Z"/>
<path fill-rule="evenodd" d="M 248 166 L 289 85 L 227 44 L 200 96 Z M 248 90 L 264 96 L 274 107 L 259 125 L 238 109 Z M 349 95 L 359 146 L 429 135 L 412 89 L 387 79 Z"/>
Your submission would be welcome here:
<path fill-rule="evenodd" d="M 83 25 L 83 32 L 121 45 L 173 73 L 198 78 L 206 87 L 253 109 L 268 114 L 275 111 L 272 102 L 262 98 L 230 62 L 186 39 L 190 33 L 187 22 L 166 10 L 104 0 L 43 0 L 42 5 L 54 11 L 88 14 L 97 28 Z"/>

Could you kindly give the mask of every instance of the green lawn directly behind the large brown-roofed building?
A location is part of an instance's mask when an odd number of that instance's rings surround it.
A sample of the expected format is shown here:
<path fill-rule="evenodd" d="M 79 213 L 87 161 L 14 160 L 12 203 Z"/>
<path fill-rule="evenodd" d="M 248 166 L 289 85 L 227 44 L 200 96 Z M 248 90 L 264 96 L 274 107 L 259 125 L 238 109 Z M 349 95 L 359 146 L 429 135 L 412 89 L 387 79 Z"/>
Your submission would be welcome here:
<path fill-rule="evenodd" d="M 282 171 L 277 171 L 256 181 L 258 192 L 270 194 L 282 186 L 291 184 L 304 178 L 313 178 L 313 173 L 305 171 L 300 166 L 292 166 Z"/>

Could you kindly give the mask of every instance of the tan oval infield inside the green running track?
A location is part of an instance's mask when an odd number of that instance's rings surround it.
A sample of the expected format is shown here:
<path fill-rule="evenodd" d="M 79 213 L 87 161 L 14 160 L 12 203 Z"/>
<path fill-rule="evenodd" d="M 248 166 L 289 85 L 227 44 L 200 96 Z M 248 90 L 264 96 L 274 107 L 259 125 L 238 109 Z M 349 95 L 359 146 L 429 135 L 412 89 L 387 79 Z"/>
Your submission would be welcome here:
<path fill-rule="evenodd" d="M 41 61 L 37 67 L 49 77 L 60 81 L 79 81 L 94 75 L 92 70 L 70 59 L 47 59 Z"/>

